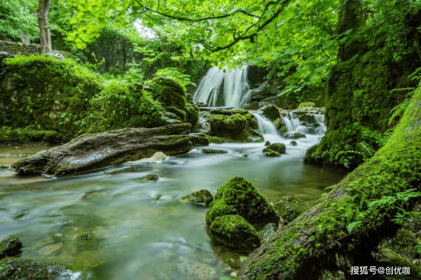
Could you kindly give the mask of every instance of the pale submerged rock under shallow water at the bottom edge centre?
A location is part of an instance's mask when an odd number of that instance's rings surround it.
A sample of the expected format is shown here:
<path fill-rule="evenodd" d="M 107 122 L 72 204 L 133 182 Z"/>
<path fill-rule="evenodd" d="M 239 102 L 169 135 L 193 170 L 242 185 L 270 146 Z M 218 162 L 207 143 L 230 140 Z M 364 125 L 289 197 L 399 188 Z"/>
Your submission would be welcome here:
<path fill-rule="evenodd" d="M 184 280 L 216 280 L 218 274 L 213 267 L 200 262 L 193 262 L 184 256 L 181 256 L 177 264 L 179 272 L 183 275 Z"/>

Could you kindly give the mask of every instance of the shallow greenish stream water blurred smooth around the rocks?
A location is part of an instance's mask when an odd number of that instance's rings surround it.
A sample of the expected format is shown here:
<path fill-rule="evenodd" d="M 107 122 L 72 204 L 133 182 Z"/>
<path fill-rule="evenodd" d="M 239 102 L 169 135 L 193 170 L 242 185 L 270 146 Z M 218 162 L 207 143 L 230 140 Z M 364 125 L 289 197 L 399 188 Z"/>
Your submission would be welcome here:
<path fill-rule="evenodd" d="M 307 135 L 293 147 L 288 145 L 290 140 L 273 136 L 287 147 L 286 154 L 277 158 L 263 156 L 263 143 L 210 144 L 207 148 L 228 153 L 203 154 L 204 147 L 197 147 L 159 163 L 126 163 L 62 178 L 17 177 L 3 170 L 0 238 L 17 235 L 26 247 L 21 257 L 65 264 L 88 272 L 88 278 L 212 279 L 210 272 L 205 273 L 209 278 L 181 275 L 179 271 L 192 260 L 197 270 L 215 269 L 219 279 L 230 270 L 226 258 L 220 259 L 214 251 L 228 249 L 211 243 L 207 236 L 207 209 L 181 204 L 179 198 L 202 188 L 215 194 L 229 178 L 242 176 L 269 201 L 296 194 L 311 205 L 324 188 L 344 176 L 303 163 L 306 149 L 318 137 Z M 10 154 L 7 149 L 0 153 Z M 160 179 L 138 180 L 150 173 Z M 87 231 L 94 233 L 93 240 L 77 238 Z"/>

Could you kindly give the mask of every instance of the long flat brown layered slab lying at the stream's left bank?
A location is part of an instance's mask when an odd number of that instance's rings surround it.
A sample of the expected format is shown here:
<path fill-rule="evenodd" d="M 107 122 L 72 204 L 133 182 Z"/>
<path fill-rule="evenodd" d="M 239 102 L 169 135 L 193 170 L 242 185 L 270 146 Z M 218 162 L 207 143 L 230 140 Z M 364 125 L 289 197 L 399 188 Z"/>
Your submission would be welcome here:
<path fill-rule="evenodd" d="M 183 154 L 192 148 L 191 125 L 183 123 L 158 128 L 124 128 L 83 134 L 67 144 L 17 161 L 13 167 L 22 174 L 63 176 L 150 157 L 155 152 Z"/>

